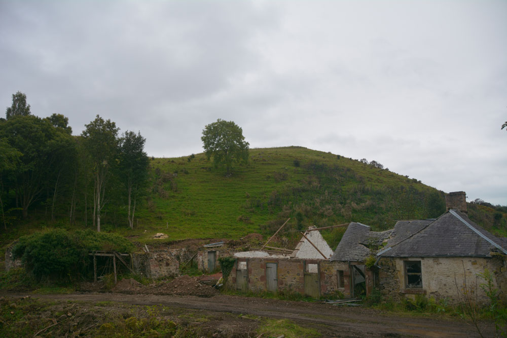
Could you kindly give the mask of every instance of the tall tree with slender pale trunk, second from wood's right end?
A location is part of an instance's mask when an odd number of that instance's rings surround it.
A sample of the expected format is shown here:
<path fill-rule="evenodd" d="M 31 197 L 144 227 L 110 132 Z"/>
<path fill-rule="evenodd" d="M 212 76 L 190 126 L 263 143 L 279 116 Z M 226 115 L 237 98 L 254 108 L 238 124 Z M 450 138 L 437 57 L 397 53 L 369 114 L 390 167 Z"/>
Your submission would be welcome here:
<path fill-rule="evenodd" d="M 111 120 L 104 120 L 98 115 L 85 127 L 81 135 L 91 158 L 94 177 L 93 225 L 96 224 L 97 232 L 100 232 L 100 210 L 106 202 L 105 192 L 112 175 L 111 167 L 116 165 L 119 128 Z"/>

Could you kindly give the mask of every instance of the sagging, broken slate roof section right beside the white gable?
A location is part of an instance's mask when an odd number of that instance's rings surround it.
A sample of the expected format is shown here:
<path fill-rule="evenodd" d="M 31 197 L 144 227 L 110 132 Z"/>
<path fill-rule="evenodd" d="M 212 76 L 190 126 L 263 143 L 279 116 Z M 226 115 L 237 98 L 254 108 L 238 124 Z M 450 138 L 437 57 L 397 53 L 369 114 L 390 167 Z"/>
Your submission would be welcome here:
<path fill-rule="evenodd" d="M 330 260 L 364 261 L 371 254 L 367 247 L 370 241 L 375 240 L 381 245 L 391 233 L 392 230 L 374 232 L 365 224 L 351 222 Z"/>

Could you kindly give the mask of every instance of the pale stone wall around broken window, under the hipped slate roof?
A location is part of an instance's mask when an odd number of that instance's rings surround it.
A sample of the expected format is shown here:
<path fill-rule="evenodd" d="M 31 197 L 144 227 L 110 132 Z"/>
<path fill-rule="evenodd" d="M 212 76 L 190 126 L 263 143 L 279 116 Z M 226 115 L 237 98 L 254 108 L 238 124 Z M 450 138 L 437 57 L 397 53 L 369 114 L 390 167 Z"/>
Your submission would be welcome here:
<path fill-rule="evenodd" d="M 404 260 L 420 260 L 422 288 L 406 288 Z M 380 291 L 392 299 L 403 297 L 414 298 L 416 294 L 424 294 L 435 299 L 448 298 L 457 301 L 456 284 L 460 290 L 466 282 L 466 288 L 477 294 L 479 303 L 486 303 L 488 298 L 480 285 L 485 280 L 479 275 L 485 269 L 493 274 L 494 287 L 501 291 L 500 297 L 507 299 L 507 272 L 505 257 L 421 257 L 421 258 L 382 258 Z"/>

